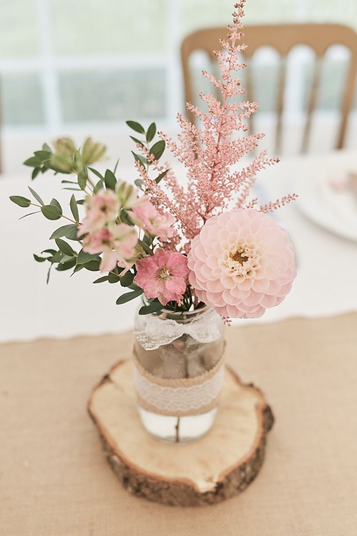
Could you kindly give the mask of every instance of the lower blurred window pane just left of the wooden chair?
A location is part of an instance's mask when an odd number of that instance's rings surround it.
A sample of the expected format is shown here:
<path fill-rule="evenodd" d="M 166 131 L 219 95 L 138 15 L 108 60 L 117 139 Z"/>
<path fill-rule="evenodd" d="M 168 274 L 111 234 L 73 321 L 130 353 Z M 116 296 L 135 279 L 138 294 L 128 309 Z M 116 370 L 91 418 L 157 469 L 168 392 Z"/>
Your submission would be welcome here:
<path fill-rule="evenodd" d="M 165 70 L 60 73 L 64 122 L 118 121 L 165 115 Z"/>

